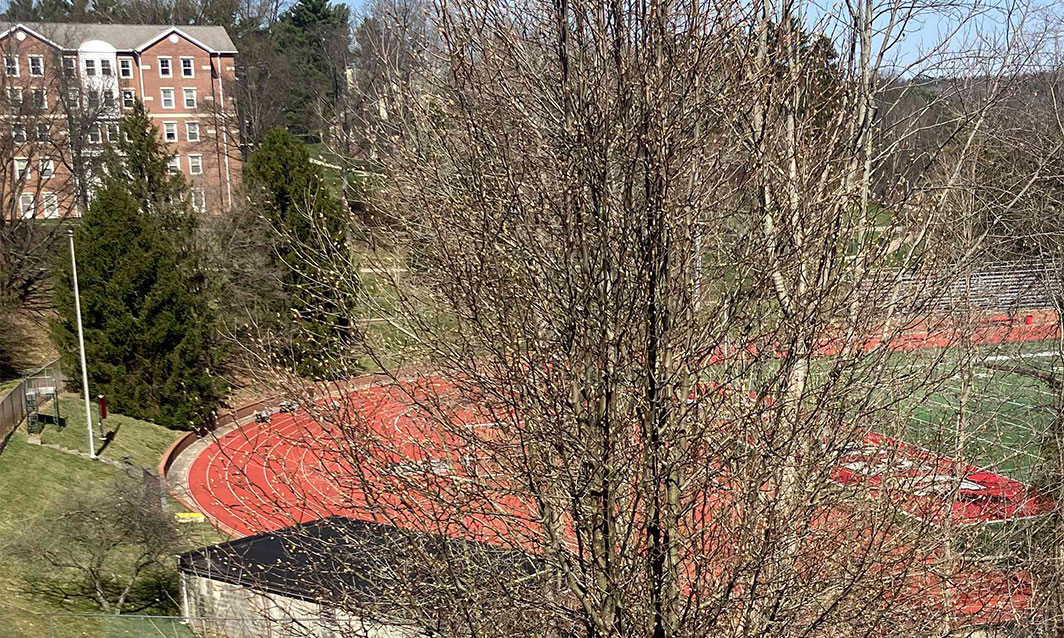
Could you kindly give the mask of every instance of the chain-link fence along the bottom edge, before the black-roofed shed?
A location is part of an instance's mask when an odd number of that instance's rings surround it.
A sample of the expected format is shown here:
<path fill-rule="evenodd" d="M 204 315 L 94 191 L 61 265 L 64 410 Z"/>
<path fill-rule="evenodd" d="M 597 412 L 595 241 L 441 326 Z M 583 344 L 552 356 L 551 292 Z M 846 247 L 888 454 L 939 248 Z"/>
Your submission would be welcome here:
<path fill-rule="evenodd" d="M 354 638 L 320 618 L 184 618 L 104 614 L 52 614 L 47 638 Z"/>

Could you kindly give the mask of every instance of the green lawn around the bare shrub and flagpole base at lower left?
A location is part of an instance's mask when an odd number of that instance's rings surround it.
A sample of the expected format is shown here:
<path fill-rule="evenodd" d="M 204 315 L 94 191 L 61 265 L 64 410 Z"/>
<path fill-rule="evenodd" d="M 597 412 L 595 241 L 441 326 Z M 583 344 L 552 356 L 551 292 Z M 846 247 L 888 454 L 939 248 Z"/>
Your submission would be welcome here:
<path fill-rule="evenodd" d="M 78 409 L 80 407 L 80 410 Z M 59 442 L 78 450 L 85 448 L 85 421 L 82 403 L 74 394 L 61 398 L 62 414 L 68 418 L 68 427 L 56 431 L 47 425 L 43 440 Z M 112 426 L 120 423 L 115 441 L 103 456 L 120 459 L 129 454 L 133 463 L 154 468 L 160 453 L 180 433 L 152 423 L 112 416 Z M 93 614 L 96 609 L 86 604 L 64 603 L 34 597 L 26 590 L 23 574 L 30 564 L 14 551 L 14 540 L 21 534 L 48 534 L 39 525 L 41 514 L 62 504 L 74 494 L 105 490 L 122 470 L 114 466 L 92 461 L 56 450 L 28 442 L 24 429 L 17 431 L 0 454 L 0 636 L 4 638 L 111 638 L 118 636 L 172 636 L 185 637 L 183 625 L 168 621 L 139 619 L 117 620 L 99 618 L 55 617 L 49 614 Z M 169 500 L 168 508 L 184 509 Z M 206 524 L 194 524 L 189 532 L 188 547 L 199 547 L 225 540 L 225 537 Z M 162 624 L 161 624 L 162 623 Z"/>

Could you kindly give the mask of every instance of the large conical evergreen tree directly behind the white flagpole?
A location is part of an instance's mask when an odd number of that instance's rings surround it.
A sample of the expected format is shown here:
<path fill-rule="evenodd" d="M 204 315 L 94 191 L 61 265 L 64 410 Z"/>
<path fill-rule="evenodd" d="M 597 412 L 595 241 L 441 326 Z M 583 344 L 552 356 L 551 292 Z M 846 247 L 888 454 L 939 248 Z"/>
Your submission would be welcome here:
<path fill-rule="evenodd" d="M 120 125 L 124 139 L 74 235 L 89 382 L 116 412 L 190 429 L 211 419 L 223 391 L 196 218 L 143 107 Z M 69 264 L 57 268 L 53 339 L 77 373 Z"/>

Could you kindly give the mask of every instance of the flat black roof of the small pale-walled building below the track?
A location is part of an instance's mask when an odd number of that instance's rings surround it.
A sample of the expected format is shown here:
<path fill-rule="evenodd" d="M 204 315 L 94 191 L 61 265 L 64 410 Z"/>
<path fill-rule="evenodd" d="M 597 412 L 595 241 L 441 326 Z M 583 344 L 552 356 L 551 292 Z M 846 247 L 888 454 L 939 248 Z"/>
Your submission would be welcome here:
<path fill-rule="evenodd" d="M 537 571 L 535 559 L 521 552 L 344 516 L 186 552 L 178 567 L 272 594 L 371 605 L 388 591 L 446 586 L 431 571 L 442 560 L 461 565 L 464 582 Z"/>

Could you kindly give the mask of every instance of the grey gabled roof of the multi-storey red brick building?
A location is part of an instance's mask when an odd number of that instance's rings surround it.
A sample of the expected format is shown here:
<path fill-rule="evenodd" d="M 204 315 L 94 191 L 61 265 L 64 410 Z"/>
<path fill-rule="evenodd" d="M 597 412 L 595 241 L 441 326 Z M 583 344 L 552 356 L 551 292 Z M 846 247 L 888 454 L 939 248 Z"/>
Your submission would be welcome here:
<path fill-rule="evenodd" d="M 0 37 L 19 27 L 66 51 L 74 51 L 88 40 L 103 40 L 119 51 L 140 51 L 171 33 L 178 33 L 212 53 L 236 53 L 236 45 L 229 37 L 225 27 L 0 22 Z"/>

